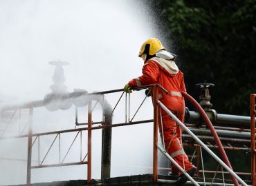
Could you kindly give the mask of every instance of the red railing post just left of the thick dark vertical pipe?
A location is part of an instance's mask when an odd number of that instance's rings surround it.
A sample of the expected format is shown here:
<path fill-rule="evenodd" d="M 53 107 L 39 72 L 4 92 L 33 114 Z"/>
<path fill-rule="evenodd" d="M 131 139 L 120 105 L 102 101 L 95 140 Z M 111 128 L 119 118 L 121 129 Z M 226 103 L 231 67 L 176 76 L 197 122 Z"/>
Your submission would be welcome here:
<path fill-rule="evenodd" d="M 87 182 L 91 182 L 91 101 L 88 104 L 88 165 L 87 165 Z"/>

